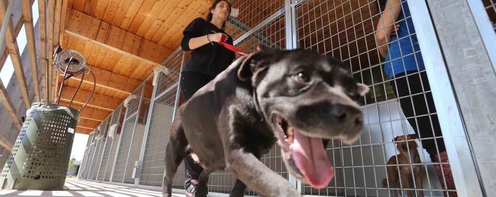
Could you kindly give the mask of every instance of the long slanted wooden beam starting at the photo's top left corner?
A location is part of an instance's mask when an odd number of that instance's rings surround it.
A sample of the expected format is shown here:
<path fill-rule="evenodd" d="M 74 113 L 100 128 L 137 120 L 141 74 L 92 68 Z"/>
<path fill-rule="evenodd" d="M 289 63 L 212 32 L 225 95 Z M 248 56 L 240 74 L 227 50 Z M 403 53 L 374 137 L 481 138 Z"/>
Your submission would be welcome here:
<path fill-rule="evenodd" d="M 0 20 L 3 20 L 5 13 L 7 11 L 8 0 L 2 0 L 0 2 Z M 24 104 L 26 108 L 31 107 L 31 101 L 29 99 L 29 93 L 26 83 L 26 77 L 24 76 L 24 70 L 22 69 L 22 61 L 19 53 L 19 47 L 17 46 L 17 40 L 14 37 L 14 25 L 12 24 L 12 19 L 8 20 L 7 30 L 5 32 L 5 44 L 7 46 L 8 53 L 10 54 L 10 60 L 12 61 L 12 66 L 14 67 L 15 75 L 19 81 L 19 88 L 21 89 L 22 97 L 24 99 Z"/>

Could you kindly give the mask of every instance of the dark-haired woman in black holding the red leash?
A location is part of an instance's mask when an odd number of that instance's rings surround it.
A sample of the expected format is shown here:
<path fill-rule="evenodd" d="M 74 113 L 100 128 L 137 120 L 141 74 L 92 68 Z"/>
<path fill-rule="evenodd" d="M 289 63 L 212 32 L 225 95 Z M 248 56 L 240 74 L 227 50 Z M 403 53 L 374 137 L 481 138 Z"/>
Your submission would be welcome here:
<path fill-rule="evenodd" d="M 180 87 L 185 101 L 231 65 L 236 57 L 234 52 L 217 44 L 223 34 L 227 36 L 225 42 L 233 44 L 233 39 L 224 31 L 230 11 L 231 4 L 228 1 L 216 0 L 206 20 L 196 18 L 184 29 L 181 48 L 184 51 L 192 50 L 191 57 L 181 71 Z M 194 197 L 203 168 L 195 164 L 191 156 L 184 159 L 184 167 L 186 197 Z"/>

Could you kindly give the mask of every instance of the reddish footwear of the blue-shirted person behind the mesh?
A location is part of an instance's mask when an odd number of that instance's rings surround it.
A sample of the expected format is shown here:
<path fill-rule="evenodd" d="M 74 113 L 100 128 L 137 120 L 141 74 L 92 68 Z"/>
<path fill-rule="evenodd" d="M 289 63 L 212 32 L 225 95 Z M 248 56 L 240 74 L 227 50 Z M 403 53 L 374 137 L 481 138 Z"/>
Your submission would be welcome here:
<path fill-rule="evenodd" d="M 439 154 L 434 155 L 434 163 L 440 162 L 449 162 L 448 154 L 446 153 L 446 151 L 442 151 Z M 437 176 L 439 177 L 439 182 L 441 183 L 441 187 L 443 188 L 443 190 L 456 190 L 455 182 L 453 181 L 453 175 L 451 174 L 451 167 L 449 166 L 449 164 L 434 164 L 434 168 L 437 171 Z M 456 192 L 447 193 L 449 194 L 449 197 L 458 197 Z M 446 192 L 444 192 L 444 196 L 448 196 Z"/>

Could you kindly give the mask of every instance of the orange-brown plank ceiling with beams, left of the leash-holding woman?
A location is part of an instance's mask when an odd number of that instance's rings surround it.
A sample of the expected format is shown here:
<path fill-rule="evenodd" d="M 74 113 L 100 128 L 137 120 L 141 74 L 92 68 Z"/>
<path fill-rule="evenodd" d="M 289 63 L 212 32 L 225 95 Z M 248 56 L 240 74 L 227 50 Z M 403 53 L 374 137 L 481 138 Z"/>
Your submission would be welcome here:
<path fill-rule="evenodd" d="M 210 0 L 68 0 L 61 46 L 86 58 L 96 77 L 77 132 L 93 131 L 175 51 L 182 30 L 205 17 Z M 63 14 L 64 15 L 64 14 Z M 62 77 L 58 77 L 60 84 Z M 81 76 L 64 83 L 61 104 L 68 105 Z M 81 108 L 93 88 L 86 75 L 73 106 Z M 147 96 L 151 97 L 151 91 Z"/>

